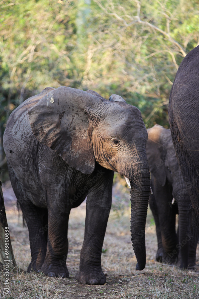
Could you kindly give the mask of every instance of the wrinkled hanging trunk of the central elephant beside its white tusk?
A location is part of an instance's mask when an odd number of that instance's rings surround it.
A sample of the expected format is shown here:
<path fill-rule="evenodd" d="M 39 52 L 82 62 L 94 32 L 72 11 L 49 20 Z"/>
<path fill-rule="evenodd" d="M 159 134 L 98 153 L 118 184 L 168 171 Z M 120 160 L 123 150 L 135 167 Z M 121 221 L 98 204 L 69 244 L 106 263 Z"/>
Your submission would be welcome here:
<path fill-rule="evenodd" d="M 145 226 L 150 192 L 150 174 L 147 160 L 137 162 L 136 176 L 130 178 L 131 189 L 131 241 L 138 261 L 137 270 L 146 264 Z"/>

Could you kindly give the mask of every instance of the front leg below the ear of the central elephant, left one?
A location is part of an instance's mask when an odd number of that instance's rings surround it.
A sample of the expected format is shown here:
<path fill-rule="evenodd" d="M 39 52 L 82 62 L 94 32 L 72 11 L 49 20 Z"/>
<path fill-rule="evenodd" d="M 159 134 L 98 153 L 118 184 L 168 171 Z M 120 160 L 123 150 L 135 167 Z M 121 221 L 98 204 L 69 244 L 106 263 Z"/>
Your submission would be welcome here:
<path fill-rule="evenodd" d="M 50 277 L 69 277 L 66 266 L 68 254 L 68 219 L 70 207 L 66 199 L 48 205 L 48 242 L 47 252 L 41 271 Z"/>

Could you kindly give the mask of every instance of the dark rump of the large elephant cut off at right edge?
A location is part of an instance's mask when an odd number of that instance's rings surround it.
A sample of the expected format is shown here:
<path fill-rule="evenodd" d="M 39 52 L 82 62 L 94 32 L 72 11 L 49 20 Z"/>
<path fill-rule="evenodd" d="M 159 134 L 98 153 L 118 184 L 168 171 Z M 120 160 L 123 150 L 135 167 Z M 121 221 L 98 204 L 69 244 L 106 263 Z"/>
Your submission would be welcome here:
<path fill-rule="evenodd" d="M 169 97 L 169 123 L 176 156 L 199 228 L 199 46 L 181 62 Z M 196 226 L 197 224 L 197 226 Z"/>

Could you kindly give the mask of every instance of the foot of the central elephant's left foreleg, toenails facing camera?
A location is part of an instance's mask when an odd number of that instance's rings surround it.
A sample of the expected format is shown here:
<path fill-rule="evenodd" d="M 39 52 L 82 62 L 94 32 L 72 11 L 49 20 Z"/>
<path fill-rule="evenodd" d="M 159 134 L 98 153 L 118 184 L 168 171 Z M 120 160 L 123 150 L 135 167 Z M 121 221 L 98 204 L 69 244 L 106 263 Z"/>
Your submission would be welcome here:
<path fill-rule="evenodd" d="M 61 266 L 59 262 L 47 264 L 47 262 L 44 261 L 41 267 L 41 272 L 49 277 L 69 277 L 66 264 Z"/>

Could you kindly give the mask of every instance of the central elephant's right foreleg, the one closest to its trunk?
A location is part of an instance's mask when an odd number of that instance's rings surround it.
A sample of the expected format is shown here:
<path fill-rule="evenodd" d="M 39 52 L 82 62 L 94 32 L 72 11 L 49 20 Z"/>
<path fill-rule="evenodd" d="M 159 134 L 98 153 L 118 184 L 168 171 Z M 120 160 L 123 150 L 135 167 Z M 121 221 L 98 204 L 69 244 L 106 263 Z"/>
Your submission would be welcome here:
<path fill-rule="evenodd" d="M 90 190 L 87 197 L 84 243 L 80 254 L 80 272 L 77 280 L 82 284 L 104 284 L 101 253 L 112 200 L 111 190 L 96 194 Z"/>

